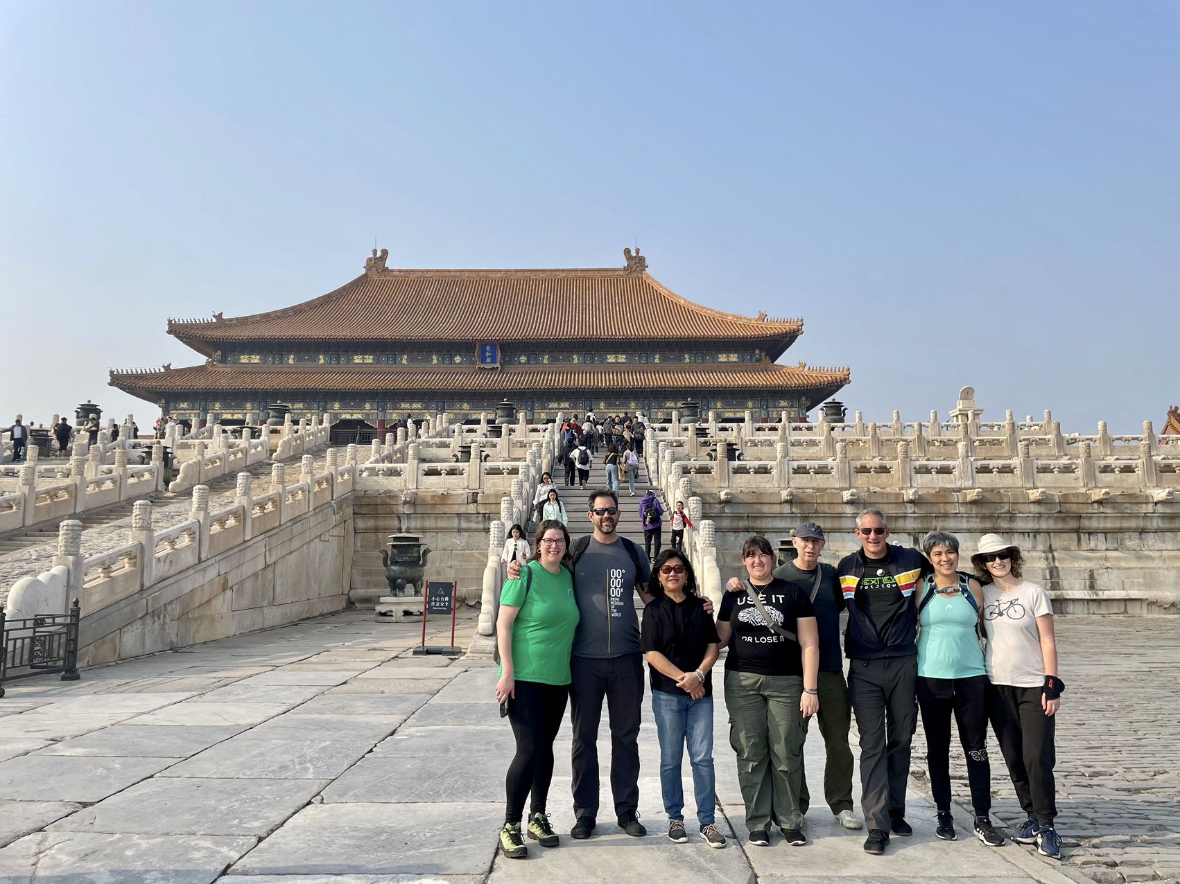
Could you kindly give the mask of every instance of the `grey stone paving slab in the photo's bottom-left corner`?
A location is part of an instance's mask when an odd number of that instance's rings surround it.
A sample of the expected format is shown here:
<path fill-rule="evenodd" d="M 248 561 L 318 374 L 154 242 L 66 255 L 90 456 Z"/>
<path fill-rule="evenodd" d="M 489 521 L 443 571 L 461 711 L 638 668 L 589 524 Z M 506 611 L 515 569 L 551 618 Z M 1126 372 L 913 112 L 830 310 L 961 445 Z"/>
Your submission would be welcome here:
<path fill-rule="evenodd" d="M 41 832 L 0 849 L 0 884 L 210 884 L 254 838 Z"/>

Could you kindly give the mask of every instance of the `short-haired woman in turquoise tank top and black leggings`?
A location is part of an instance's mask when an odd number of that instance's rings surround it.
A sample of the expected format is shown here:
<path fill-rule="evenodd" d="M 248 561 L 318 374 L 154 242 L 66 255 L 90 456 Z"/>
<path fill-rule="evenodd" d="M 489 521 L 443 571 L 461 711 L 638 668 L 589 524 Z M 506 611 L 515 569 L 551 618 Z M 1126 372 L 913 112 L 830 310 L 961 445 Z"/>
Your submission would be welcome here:
<path fill-rule="evenodd" d="M 958 537 L 931 532 L 922 540 L 935 568 L 918 589 L 918 710 L 926 732 L 926 770 L 943 840 L 955 840 L 951 816 L 951 715 L 966 757 L 975 836 L 989 847 L 1004 837 L 991 825 L 988 763 L 988 674 L 979 646 L 979 582 L 959 573 Z"/>

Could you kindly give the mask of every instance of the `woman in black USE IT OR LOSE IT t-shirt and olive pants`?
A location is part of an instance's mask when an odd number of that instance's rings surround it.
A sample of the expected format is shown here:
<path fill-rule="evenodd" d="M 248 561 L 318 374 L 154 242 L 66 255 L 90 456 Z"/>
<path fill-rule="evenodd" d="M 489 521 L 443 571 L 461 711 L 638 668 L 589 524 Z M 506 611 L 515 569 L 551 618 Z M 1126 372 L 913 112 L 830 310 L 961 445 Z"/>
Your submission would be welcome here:
<path fill-rule="evenodd" d="M 819 635 L 811 599 L 773 576 L 774 552 L 766 537 L 742 545 L 749 585 L 779 629 L 771 628 L 748 593 L 728 592 L 717 613 L 727 645 L 726 706 L 729 744 L 738 753 L 738 781 L 746 803 L 749 843 L 769 844 L 772 820 L 791 845 L 806 843 L 800 791 L 807 719 L 819 710 Z M 730 580 L 728 588 L 735 588 Z M 736 587 L 736 588 L 740 588 Z"/>

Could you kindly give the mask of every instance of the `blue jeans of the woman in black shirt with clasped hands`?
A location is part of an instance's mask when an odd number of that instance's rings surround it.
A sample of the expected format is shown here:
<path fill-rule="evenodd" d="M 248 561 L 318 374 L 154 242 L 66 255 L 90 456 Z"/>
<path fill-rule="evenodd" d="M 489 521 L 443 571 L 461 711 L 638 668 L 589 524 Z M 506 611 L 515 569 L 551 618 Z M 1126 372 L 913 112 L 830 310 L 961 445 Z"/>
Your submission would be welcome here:
<path fill-rule="evenodd" d="M 688 694 L 651 692 L 651 711 L 660 737 L 660 787 L 668 819 L 684 819 L 684 785 L 680 766 L 688 743 L 696 794 L 696 819 L 702 825 L 716 822 L 716 776 L 713 772 L 713 698 L 691 699 Z"/>

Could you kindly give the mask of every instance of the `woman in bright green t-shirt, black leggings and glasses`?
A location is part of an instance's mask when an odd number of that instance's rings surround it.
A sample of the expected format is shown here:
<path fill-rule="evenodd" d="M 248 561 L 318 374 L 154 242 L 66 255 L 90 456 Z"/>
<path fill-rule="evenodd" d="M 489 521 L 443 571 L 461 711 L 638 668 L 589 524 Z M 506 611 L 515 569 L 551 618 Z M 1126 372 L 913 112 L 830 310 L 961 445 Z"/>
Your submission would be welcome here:
<path fill-rule="evenodd" d="M 527 853 L 520 833 L 525 798 L 530 838 L 543 847 L 558 843 L 545 800 L 553 778 L 553 740 L 565 715 L 570 690 L 570 653 L 578 625 L 573 576 L 562 565 L 570 547 L 565 525 L 548 519 L 537 528 L 532 561 L 500 593 L 496 645 L 500 653 L 500 680 L 496 699 L 507 706 L 516 737 L 516 756 L 505 781 L 507 807 L 500 830 L 500 851 L 517 859 Z"/>

